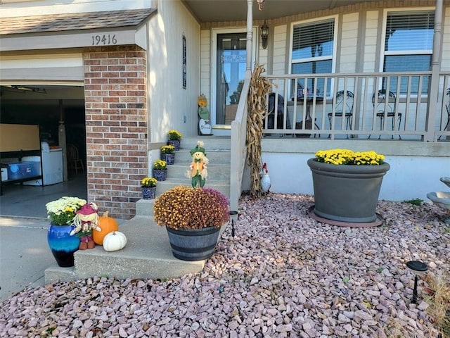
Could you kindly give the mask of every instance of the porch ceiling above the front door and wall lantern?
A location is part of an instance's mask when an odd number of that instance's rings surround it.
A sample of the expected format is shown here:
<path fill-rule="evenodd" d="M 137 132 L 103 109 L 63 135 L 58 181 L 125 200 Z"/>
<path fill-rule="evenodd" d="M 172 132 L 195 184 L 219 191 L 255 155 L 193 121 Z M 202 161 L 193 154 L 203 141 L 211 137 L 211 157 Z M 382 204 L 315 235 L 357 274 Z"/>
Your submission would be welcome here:
<path fill-rule="evenodd" d="M 183 0 L 200 23 L 247 19 L 246 0 Z M 361 0 L 266 0 L 264 10 L 258 11 L 253 0 L 253 20 L 281 18 L 283 16 L 333 9 L 364 2 Z"/>

